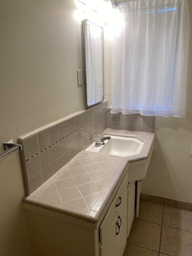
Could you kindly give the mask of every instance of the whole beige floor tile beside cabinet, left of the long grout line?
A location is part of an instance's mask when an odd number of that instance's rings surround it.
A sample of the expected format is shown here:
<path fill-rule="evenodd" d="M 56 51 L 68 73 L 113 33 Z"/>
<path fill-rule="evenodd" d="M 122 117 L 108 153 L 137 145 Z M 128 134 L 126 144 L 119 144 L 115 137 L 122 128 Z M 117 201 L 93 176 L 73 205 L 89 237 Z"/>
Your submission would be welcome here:
<path fill-rule="evenodd" d="M 160 224 L 134 219 L 127 242 L 158 252 L 160 236 Z"/>

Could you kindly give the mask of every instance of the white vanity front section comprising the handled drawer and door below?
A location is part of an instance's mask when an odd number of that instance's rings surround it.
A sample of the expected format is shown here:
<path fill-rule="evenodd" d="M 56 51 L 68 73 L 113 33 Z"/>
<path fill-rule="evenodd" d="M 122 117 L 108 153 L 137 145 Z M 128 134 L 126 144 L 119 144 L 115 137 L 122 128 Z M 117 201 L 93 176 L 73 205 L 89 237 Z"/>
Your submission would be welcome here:
<path fill-rule="evenodd" d="M 100 256 L 122 256 L 127 240 L 127 174 L 100 226 Z"/>

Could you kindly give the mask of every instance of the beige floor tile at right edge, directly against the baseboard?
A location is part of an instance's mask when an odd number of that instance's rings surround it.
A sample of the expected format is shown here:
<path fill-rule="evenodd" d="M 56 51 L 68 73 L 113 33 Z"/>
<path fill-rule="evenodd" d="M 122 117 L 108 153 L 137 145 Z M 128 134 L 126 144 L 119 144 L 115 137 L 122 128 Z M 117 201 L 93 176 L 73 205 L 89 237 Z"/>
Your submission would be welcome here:
<path fill-rule="evenodd" d="M 192 232 L 192 212 L 164 206 L 163 225 Z"/>

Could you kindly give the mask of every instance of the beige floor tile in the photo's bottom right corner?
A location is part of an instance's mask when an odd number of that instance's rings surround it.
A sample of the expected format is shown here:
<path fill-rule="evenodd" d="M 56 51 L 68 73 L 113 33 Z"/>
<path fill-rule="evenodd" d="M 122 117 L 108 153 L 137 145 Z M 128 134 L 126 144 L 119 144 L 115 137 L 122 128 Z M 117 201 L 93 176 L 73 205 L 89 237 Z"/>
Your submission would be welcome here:
<path fill-rule="evenodd" d="M 192 233 L 162 226 L 160 252 L 170 256 L 191 256 Z"/>

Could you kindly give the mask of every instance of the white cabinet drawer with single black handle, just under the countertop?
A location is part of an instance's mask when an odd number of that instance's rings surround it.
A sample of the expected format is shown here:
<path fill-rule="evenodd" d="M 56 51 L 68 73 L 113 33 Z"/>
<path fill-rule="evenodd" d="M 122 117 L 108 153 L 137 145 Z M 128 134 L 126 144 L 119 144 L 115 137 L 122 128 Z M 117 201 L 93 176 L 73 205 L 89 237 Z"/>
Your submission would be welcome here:
<path fill-rule="evenodd" d="M 127 189 L 128 186 L 128 174 L 125 175 L 124 179 L 122 180 L 122 183 L 112 201 L 112 203 L 110 204 L 110 207 L 106 213 L 106 216 L 104 217 L 100 228 L 99 228 L 99 232 L 100 232 L 100 242 L 104 242 L 104 239 L 106 237 L 106 234 L 110 228 L 110 225 L 114 219 L 114 216 L 116 214 L 116 212 L 118 211 L 118 208 L 120 208 L 121 204 L 122 204 L 122 199 L 124 196 L 124 193 Z"/>

